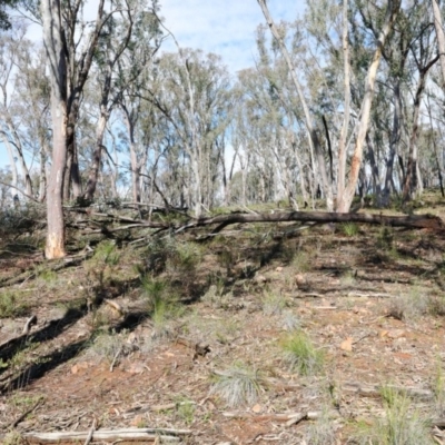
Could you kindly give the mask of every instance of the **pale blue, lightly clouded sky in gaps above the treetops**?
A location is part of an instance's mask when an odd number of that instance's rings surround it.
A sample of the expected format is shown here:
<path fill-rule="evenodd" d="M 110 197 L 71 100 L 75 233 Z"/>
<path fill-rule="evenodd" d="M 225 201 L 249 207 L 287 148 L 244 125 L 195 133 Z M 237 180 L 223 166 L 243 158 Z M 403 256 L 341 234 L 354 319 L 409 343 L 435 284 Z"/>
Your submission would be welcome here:
<path fill-rule="evenodd" d="M 295 20 L 303 14 L 304 0 L 269 0 L 276 21 Z M 93 19 L 98 0 L 87 0 L 87 19 Z M 257 0 L 160 0 L 160 17 L 184 48 L 200 48 L 222 57 L 229 71 L 251 67 L 255 59 L 255 30 L 265 19 Z M 41 28 L 29 28 L 29 38 L 41 41 Z M 174 51 L 172 41 L 165 42 Z M 0 144 L 0 167 L 8 165 L 6 148 Z"/>

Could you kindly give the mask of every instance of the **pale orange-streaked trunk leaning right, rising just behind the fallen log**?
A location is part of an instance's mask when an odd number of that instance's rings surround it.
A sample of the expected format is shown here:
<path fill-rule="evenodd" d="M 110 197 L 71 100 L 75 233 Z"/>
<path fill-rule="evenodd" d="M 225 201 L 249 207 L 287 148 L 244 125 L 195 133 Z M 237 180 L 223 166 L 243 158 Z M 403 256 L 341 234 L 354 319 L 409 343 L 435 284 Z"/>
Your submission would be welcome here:
<path fill-rule="evenodd" d="M 377 76 L 377 69 L 382 58 L 382 51 L 385 46 L 385 41 L 393 29 L 394 21 L 400 7 L 400 0 L 389 0 L 386 10 L 385 22 L 378 37 L 377 49 L 374 53 L 373 61 L 370 62 L 368 73 L 365 81 L 365 97 L 362 103 L 362 117 L 358 126 L 357 140 L 355 142 L 354 156 L 352 159 L 349 181 L 345 191 L 342 196 L 337 196 L 337 211 L 347 212 L 349 211 L 350 205 L 353 204 L 355 190 L 357 187 L 358 174 L 362 167 L 363 158 L 363 146 L 365 144 L 366 134 L 368 131 L 370 106 L 374 98 L 374 86 Z"/>

